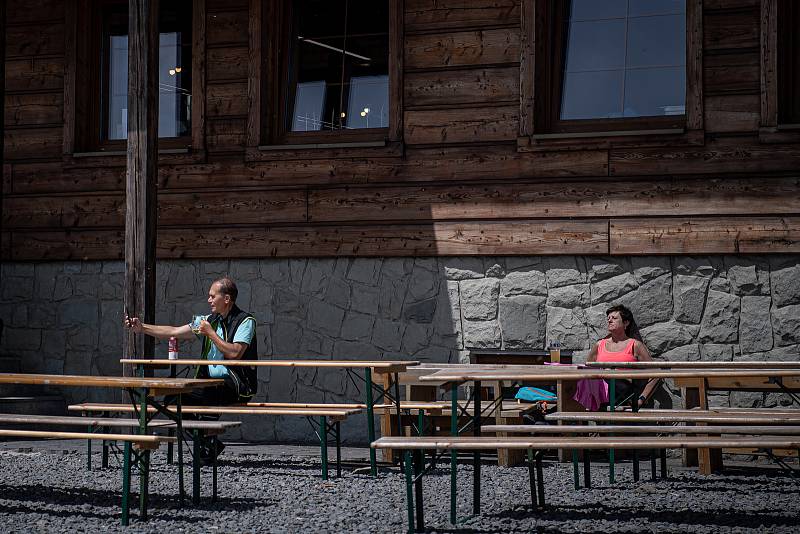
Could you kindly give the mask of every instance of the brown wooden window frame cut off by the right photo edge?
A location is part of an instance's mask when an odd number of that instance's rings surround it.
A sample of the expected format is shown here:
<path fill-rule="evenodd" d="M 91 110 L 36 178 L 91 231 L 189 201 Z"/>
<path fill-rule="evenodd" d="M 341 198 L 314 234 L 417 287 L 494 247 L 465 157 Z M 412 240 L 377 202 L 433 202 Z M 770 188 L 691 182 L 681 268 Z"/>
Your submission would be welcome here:
<path fill-rule="evenodd" d="M 759 140 L 763 143 L 784 143 L 800 141 L 800 124 L 785 121 L 781 116 L 781 107 L 786 94 L 792 89 L 785 84 L 791 83 L 782 79 L 780 71 L 783 68 L 781 47 L 787 46 L 787 40 L 779 38 L 782 31 L 780 20 L 780 0 L 761 0 L 761 124 Z M 795 9 L 798 9 L 795 6 Z M 800 38 L 800 30 L 798 36 Z M 784 59 L 785 61 L 785 59 Z M 800 64 L 795 68 L 800 68 Z"/>

